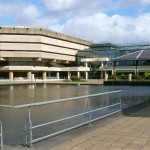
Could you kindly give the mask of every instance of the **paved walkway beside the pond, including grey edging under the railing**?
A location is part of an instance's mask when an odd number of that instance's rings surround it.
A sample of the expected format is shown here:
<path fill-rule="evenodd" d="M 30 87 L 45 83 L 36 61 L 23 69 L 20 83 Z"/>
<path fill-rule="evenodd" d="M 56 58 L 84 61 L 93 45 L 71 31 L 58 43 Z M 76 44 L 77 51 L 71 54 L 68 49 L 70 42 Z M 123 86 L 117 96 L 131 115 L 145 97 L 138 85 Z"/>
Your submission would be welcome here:
<path fill-rule="evenodd" d="M 84 128 L 81 128 L 79 132 L 84 130 Z M 45 142 L 46 144 L 42 142 L 39 145 L 35 144 L 33 149 L 150 150 L 150 102 L 102 119 L 97 123 L 96 127 L 93 125 L 91 129 L 77 136 L 73 134 L 67 135 L 68 139 L 64 141 L 62 139 L 66 135 L 60 135 L 58 137 L 61 138 L 61 142 L 49 139 Z M 54 142 L 56 143 L 53 145 Z M 15 147 L 13 149 L 22 150 L 23 147 Z"/>

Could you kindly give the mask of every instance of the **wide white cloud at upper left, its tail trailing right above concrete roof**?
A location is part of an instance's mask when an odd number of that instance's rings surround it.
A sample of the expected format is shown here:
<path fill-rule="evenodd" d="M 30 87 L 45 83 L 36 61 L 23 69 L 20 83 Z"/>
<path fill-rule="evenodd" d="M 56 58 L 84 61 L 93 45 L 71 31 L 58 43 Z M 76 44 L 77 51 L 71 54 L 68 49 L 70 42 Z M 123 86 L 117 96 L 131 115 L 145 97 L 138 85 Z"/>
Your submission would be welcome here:
<path fill-rule="evenodd" d="M 6 0 L 7 1 L 7 0 Z M 26 3 L 24 1 L 7 1 L 7 3 L 0 1 L 0 17 L 11 18 L 14 25 L 34 26 L 34 27 L 48 27 L 50 24 L 55 24 L 58 19 L 51 17 L 44 17 L 43 12 L 34 4 Z M 1 24 L 4 25 L 5 24 Z"/>

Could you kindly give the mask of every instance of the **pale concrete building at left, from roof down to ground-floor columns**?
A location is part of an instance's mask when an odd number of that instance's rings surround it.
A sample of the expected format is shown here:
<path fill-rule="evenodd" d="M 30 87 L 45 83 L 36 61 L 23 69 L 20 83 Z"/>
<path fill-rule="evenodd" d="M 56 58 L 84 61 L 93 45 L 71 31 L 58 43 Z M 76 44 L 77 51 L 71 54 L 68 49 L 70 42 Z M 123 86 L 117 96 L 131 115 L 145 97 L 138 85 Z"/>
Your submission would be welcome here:
<path fill-rule="evenodd" d="M 89 67 L 78 67 L 76 54 L 91 44 L 41 28 L 0 27 L 0 79 L 88 78 Z"/>

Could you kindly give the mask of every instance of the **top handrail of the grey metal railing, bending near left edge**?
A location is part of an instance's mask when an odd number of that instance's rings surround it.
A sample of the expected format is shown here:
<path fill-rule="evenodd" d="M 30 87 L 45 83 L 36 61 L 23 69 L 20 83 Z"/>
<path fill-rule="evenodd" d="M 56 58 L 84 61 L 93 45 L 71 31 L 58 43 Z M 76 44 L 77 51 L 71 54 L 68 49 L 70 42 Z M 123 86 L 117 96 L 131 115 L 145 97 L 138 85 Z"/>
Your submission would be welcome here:
<path fill-rule="evenodd" d="M 41 105 L 60 103 L 60 102 L 66 102 L 66 101 L 81 100 L 84 98 L 95 97 L 95 96 L 100 96 L 100 95 L 114 94 L 114 93 L 119 93 L 121 91 L 122 90 L 117 90 L 117 91 L 111 91 L 111 92 L 90 94 L 90 95 L 85 95 L 85 96 L 77 96 L 77 97 L 71 97 L 71 98 L 63 98 L 63 99 L 59 99 L 59 100 L 49 100 L 49 101 L 45 101 L 45 102 L 37 102 L 37 103 L 15 105 L 15 106 L 14 105 L 0 105 L 0 108 L 25 108 L 25 107 L 32 107 L 32 106 L 41 106 Z"/>

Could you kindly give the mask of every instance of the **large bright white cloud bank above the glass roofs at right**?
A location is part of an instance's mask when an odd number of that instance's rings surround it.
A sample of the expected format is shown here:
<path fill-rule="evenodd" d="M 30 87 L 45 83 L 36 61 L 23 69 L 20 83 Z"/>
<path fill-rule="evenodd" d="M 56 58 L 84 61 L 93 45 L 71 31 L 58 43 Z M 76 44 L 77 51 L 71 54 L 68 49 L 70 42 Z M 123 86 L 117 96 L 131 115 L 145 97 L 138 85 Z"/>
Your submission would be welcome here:
<path fill-rule="evenodd" d="M 89 17 L 71 19 L 63 26 L 57 24 L 57 28 L 60 32 L 95 42 L 131 43 L 150 41 L 149 24 L 150 13 L 137 18 L 120 15 L 111 17 L 105 13 L 98 13 Z"/>

